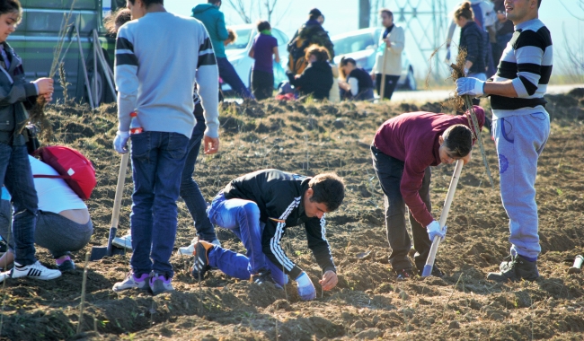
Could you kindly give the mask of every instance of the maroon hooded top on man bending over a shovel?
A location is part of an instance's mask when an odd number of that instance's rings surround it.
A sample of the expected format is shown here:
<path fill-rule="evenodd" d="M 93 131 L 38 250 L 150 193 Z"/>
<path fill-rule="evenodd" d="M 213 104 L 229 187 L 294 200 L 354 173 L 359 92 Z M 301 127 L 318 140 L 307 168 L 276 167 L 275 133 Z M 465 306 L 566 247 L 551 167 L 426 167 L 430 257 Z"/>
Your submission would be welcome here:
<path fill-rule="evenodd" d="M 484 110 L 474 107 L 479 127 L 484 125 Z M 420 197 L 424 173 L 429 166 L 441 163 L 438 154 L 438 137 L 448 127 L 462 124 L 469 127 L 468 114 L 451 116 L 431 112 L 411 112 L 390 118 L 377 129 L 373 145 L 385 155 L 403 162 L 403 176 L 400 183 L 405 205 L 411 215 L 423 226 L 428 226 L 434 218 Z"/>

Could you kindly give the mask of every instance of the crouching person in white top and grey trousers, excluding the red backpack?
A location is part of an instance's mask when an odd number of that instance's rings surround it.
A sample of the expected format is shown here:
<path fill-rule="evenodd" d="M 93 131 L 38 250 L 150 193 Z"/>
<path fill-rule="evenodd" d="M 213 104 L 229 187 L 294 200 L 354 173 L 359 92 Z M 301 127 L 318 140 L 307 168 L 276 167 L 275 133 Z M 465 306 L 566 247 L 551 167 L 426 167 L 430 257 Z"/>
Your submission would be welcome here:
<path fill-rule="evenodd" d="M 47 163 L 32 156 L 29 156 L 29 161 L 32 175 L 59 175 L 57 170 Z M 34 188 L 39 197 L 34 241 L 40 247 L 49 249 L 61 272 L 74 270 L 75 263 L 71 260 L 70 252 L 83 249 L 93 234 L 93 223 L 87 205 L 64 179 L 34 178 Z M 14 261 L 13 214 L 10 195 L 4 187 L 2 191 L 0 235 L 2 239 L 7 240 L 9 249 L 0 258 L 0 267 L 6 269 L 12 266 Z"/>

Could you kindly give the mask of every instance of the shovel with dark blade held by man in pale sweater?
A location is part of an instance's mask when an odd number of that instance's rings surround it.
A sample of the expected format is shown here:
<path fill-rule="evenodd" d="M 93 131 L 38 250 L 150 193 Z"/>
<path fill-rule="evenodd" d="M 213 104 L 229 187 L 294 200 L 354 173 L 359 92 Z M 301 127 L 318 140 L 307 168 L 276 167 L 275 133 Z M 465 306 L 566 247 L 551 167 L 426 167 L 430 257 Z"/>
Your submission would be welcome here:
<path fill-rule="evenodd" d="M 114 197 L 113 199 L 113 212 L 111 213 L 110 238 L 108 238 L 108 245 L 94 246 L 92 248 L 92 255 L 89 258 L 91 261 L 100 260 L 104 257 L 126 254 L 126 249 L 116 248 L 111 244 L 111 241 L 113 241 L 113 239 L 116 238 L 116 232 L 118 232 L 119 208 L 121 206 L 121 198 L 124 192 L 126 170 L 128 170 L 128 159 L 129 152 L 121 156 L 121 164 L 119 165 L 118 174 L 118 186 L 116 187 L 116 197 Z"/>

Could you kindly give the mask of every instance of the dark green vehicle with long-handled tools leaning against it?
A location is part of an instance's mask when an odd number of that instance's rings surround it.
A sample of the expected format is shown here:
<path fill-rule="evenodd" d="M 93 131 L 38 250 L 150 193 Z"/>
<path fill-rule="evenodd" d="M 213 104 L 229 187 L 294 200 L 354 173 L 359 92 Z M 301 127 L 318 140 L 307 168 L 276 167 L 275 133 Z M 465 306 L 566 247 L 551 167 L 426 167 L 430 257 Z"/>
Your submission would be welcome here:
<path fill-rule="evenodd" d="M 87 90 L 84 81 L 83 66 L 87 67 L 90 83 L 97 78 L 97 99 L 95 103 L 113 101 L 110 87 L 105 80 L 102 69 L 94 72 L 93 64 L 93 30 L 99 34 L 104 56 L 113 66 L 113 50 L 115 37 L 106 35 L 103 27 L 103 16 L 119 6 L 125 6 L 125 0 L 21 0 L 22 22 L 17 31 L 8 38 L 16 53 L 22 57 L 26 79 L 33 81 L 39 77 L 47 77 L 53 63 L 55 47 L 58 45 L 58 34 L 63 24 L 63 18 L 72 11 L 71 22 L 79 30 L 84 58 L 75 38 L 75 28 L 71 27 L 63 46 L 63 62 L 66 74 L 68 97 L 76 101 L 84 101 Z M 93 85 L 92 85 L 93 86 Z M 95 92 L 95 91 L 93 91 Z M 59 76 L 55 76 L 56 100 L 63 98 L 63 87 Z"/>

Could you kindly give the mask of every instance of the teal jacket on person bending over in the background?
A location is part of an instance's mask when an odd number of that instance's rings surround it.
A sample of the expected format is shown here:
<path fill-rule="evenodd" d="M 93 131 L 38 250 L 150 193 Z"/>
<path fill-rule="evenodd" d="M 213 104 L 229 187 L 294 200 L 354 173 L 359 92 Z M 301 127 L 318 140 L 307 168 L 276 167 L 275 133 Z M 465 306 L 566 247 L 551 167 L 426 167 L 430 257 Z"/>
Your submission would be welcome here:
<path fill-rule="evenodd" d="M 223 12 L 213 4 L 198 4 L 192 9 L 192 17 L 203 22 L 215 50 L 215 57 L 226 58 L 226 47 L 223 42 L 229 33 L 226 27 L 226 18 Z"/>

